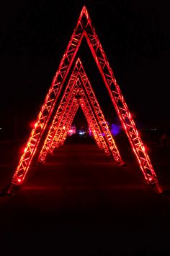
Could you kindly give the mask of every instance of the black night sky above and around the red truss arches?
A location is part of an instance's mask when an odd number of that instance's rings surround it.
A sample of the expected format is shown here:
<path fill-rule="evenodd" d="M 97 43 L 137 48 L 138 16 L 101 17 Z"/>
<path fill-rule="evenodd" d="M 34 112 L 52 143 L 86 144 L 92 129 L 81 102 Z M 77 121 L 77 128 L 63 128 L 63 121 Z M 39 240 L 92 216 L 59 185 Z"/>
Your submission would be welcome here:
<path fill-rule="evenodd" d="M 170 129 L 169 1 L 5 1 L 0 9 L 0 126 L 29 132 L 84 4 L 139 127 Z M 84 40 L 78 52 L 107 120 L 117 121 Z"/>

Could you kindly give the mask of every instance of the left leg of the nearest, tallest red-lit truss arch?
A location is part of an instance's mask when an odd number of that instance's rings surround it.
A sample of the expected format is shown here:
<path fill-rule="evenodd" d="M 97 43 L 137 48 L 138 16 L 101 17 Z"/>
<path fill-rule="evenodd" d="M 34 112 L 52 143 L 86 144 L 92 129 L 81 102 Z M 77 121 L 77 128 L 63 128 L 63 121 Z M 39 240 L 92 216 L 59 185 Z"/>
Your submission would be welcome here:
<path fill-rule="evenodd" d="M 37 150 L 37 146 L 39 145 L 42 135 L 45 132 L 48 121 L 50 121 L 50 116 L 53 113 L 58 96 L 61 93 L 63 83 L 66 80 L 73 59 L 76 56 L 76 52 L 78 51 L 81 40 L 84 36 L 84 26 L 82 22 L 84 11 L 85 9 L 83 8 L 76 24 L 76 28 L 73 31 L 73 35 L 71 36 L 71 40 L 69 41 L 65 54 L 63 55 L 63 59 L 61 59 L 61 63 L 59 64 L 58 71 L 53 78 L 50 90 L 45 97 L 45 102 L 37 116 L 35 127 L 32 129 L 27 145 L 24 148 L 24 153 L 22 154 L 17 169 L 14 173 L 12 184 L 19 185 L 23 182 L 24 177 L 30 167 L 30 163 L 32 162 L 32 158 Z"/>

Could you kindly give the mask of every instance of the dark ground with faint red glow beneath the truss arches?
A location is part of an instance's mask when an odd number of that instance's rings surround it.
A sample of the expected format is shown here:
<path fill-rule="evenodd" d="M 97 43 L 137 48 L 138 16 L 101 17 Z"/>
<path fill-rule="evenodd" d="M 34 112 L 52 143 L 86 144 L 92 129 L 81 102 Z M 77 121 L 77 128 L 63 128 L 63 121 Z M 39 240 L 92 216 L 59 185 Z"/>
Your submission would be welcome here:
<path fill-rule="evenodd" d="M 170 195 L 143 182 L 130 147 L 116 166 L 91 142 L 68 141 L 33 166 L 17 195 L 0 197 L 0 255 L 170 255 Z M 22 142 L 0 144 L 0 188 Z M 169 149 L 150 145 L 161 184 L 170 187 Z"/>

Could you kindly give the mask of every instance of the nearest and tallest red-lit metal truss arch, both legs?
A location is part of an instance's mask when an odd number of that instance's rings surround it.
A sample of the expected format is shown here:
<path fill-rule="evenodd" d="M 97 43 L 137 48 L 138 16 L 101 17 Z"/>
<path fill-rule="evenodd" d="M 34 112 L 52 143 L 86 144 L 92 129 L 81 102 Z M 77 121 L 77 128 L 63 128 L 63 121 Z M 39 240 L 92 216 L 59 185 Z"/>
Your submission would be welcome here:
<path fill-rule="evenodd" d="M 99 41 L 97 33 L 94 30 L 94 26 L 92 25 L 86 7 L 83 7 L 83 9 L 81 10 L 81 14 L 76 24 L 76 28 L 73 31 L 71 40 L 69 41 L 66 51 L 63 54 L 63 58 L 61 59 L 61 63 L 58 67 L 58 71 L 56 72 L 52 85 L 50 86 L 48 94 L 46 95 L 45 102 L 42 105 L 39 115 L 37 116 L 35 127 L 32 129 L 30 138 L 27 142 L 26 147 L 24 148 L 24 153 L 22 154 L 17 169 L 14 172 L 12 184 L 19 185 L 22 184 L 22 182 L 24 181 L 24 177 L 29 170 L 32 159 L 37 151 L 37 147 L 40 144 L 40 140 L 42 139 L 42 135 L 45 132 L 47 124 L 49 124 L 50 122 L 50 118 L 53 114 L 55 104 L 58 101 L 58 96 L 61 93 L 63 85 L 65 84 L 68 72 L 71 69 L 73 60 L 75 59 L 77 51 L 79 50 L 79 46 L 81 45 L 82 38 L 86 38 L 86 41 L 91 50 L 91 54 L 94 56 L 94 60 L 97 63 L 97 67 L 99 68 L 99 72 L 102 75 L 102 79 L 104 80 L 104 84 L 108 90 L 109 96 L 112 100 L 113 105 L 115 106 L 117 115 L 119 116 L 122 123 L 122 127 L 125 129 L 125 133 L 128 136 L 131 148 L 133 148 L 140 169 L 143 172 L 144 179 L 148 184 L 154 185 L 158 188 L 158 190 L 160 190 L 161 188 L 158 184 L 158 179 L 151 164 L 148 153 L 146 152 L 146 148 L 143 145 L 140 135 L 138 134 L 138 130 L 135 127 L 133 117 L 130 114 L 127 104 L 125 103 L 125 99 L 123 98 L 123 95 L 121 93 L 120 86 L 117 84 L 115 76 L 112 72 L 112 68 L 109 65 L 109 61 L 107 60 L 107 56 L 104 53 L 102 44 Z M 75 69 L 79 69 L 79 67 L 77 66 L 75 67 Z M 77 72 L 74 72 L 72 75 L 75 76 L 78 74 Z M 86 76 L 84 77 L 84 72 L 82 72 L 79 80 L 82 80 L 83 85 L 88 88 L 87 90 L 91 90 Z M 76 81 L 76 77 L 73 77 L 73 79 L 71 78 L 71 82 L 73 84 Z M 81 103 L 81 106 L 82 104 L 83 103 Z M 85 108 L 84 113 L 86 113 Z M 99 112 L 99 115 L 97 117 L 98 120 L 100 119 L 100 115 L 101 113 Z M 96 127 L 93 127 L 92 129 L 94 130 L 96 129 Z M 99 138 L 99 135 L 97 136 L 97 143 L 101 146 L 102 142 Z M 107 139 L 110 140 L 109 136 L 107 137 Z M 107 141 L 107 145 L 108 143 L 109 142 Z M 103 145 L 101 147 L 103 147 Z M 115 147 L 114 143 L 112 147 Z M 117 161 L 118 160 L 120 160 L 120 155 L 117 153 Z"/>

